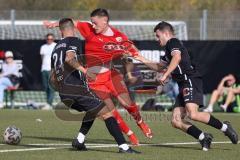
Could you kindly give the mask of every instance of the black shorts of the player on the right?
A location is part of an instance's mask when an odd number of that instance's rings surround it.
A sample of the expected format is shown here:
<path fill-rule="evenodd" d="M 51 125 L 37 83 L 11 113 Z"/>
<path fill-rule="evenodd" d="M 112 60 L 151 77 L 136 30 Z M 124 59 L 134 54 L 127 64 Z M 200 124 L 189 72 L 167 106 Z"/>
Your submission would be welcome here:
<path fill-rule="evenodd" d="M 203 82 L 202 78 L 187 78 L 178 82 L 179 95 L 176 98 L 175 107 L 185 107 L 187 103 L 198 104 L 203 107 Z"/>

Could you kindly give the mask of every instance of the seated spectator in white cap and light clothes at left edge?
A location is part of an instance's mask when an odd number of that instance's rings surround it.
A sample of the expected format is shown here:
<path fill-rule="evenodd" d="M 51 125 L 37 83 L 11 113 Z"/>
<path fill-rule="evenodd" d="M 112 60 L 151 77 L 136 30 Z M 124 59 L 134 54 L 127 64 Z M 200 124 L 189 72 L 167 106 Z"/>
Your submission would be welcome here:
<path fill-rule="evenodd" d="M 3 108 L 4 90 L 16 86 L 19 83 L 18 66 L 13 60 L 11 51 L 5 52 L 5 62 L 2 65 L 0 74 L 0 108 Z"/>

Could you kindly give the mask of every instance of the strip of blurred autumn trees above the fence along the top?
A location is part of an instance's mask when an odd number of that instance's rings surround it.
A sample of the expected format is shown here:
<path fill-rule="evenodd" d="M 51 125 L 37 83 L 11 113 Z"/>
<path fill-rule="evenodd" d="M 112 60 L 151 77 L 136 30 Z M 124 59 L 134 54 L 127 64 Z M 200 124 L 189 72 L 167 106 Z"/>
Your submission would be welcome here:
<path fill-rule="evenodd" d="M 238 10 L 240 0 L 0 0 L 1 10 Z"/>

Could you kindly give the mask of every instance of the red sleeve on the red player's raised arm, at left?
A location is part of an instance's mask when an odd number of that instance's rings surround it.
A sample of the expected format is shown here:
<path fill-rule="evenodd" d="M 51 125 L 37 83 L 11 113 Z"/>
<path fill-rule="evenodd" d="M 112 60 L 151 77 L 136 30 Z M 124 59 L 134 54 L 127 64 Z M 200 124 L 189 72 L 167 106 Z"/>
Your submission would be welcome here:
<path fill-rule="evenodd" d="M 94 32 L 92 25 L 88 22 L 78 21 L 76 27 L 85 39 L 87 39 L 91 33 Z"/>

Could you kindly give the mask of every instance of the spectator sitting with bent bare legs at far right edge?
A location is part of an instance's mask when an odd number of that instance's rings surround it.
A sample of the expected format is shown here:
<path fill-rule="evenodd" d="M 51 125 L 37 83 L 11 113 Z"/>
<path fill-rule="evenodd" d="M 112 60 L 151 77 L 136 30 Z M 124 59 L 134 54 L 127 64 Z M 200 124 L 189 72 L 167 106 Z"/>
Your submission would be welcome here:
<path fill-rule="evenodd" d="M 229 74 L 221 80 L 217 89 L 211 95 L 209 105 L 204 112 L 213 112 L 213 105 L 218 101 L 220 107 L 226 112 L 227 107 L 235 101 L 235 94 L 240 93 L 239 82 L 233 74 Z"/>

